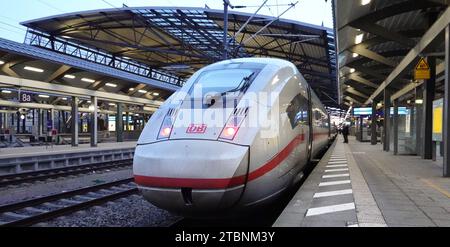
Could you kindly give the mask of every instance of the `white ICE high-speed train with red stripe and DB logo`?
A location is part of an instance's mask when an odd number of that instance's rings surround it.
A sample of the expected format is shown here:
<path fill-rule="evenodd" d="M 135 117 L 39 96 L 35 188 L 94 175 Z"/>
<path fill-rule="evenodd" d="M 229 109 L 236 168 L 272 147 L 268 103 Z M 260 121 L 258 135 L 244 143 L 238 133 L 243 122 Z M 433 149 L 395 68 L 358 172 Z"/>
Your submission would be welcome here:
<path fill-rule="evenodd" d="M 149 202 L 178 214 L 253 208 L 300 180 L 329 143 L 329 126 L 294 64 L 214 63 L 150 118 L 134 154 L 135 182 Z"/>

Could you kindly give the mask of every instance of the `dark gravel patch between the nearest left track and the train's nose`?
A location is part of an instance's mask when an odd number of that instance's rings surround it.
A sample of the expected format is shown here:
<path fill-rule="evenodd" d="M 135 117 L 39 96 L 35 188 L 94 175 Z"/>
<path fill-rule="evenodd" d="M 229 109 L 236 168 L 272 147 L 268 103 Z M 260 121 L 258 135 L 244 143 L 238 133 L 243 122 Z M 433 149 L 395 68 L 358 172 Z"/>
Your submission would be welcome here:
<path fill-rule="evenodd" d="M 41 227 L 151 227 L 168 226 L 177 219 L 141 195 L 132 195 L 35 226 Z"/>

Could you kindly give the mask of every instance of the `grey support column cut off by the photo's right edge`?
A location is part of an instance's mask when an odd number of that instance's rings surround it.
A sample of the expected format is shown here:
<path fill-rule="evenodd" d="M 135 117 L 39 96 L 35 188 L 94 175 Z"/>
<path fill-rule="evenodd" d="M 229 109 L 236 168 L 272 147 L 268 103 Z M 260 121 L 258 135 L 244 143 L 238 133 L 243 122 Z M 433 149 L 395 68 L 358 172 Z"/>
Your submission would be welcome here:
<path fill-rule="evenodd" d="M 445 28 L 445 93 L 444 93 L 444 177 L 450 177 L 450 26 Z"/>

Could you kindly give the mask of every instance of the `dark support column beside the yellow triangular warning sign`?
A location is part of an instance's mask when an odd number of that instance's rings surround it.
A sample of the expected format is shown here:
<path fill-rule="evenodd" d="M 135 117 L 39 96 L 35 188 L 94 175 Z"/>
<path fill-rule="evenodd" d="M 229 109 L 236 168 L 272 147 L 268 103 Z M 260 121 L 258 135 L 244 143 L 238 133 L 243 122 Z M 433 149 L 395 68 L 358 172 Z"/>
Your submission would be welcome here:
<path fill-rule="evenodd" d="M 430 79 L 423 85 L 423 159 L 432 158 L 432 125 L 433 125 L 433 100 L 436 83 L 436 57 L 428 57 L 430 65 Z"/>

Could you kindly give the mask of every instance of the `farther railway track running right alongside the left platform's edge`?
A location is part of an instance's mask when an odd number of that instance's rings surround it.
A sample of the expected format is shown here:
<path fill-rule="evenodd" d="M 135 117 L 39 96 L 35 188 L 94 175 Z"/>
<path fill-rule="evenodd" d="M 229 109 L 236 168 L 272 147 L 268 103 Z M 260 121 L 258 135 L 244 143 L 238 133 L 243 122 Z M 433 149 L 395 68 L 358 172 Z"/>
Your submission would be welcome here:
<path fill-rule="evenodd" d="M 89 173 L 93 171 L 114 169 L 119 167 L 127 167 L 132 165 L 132 159 L 120 160 L 120 161 L 109 161 L 101 163 L 93 163 L 79 166 L 68 166 L 55 169 L 47 169 L 32 172 L 23 172 L 15 174 L 7 174 L 0 176 L 0 187 L 5 187 L 8 185 L 30 183 L 36 181 L 42 181 L 51 178 L 58 178 L 71 175 L 79 175 L 84 173 Z"/>

